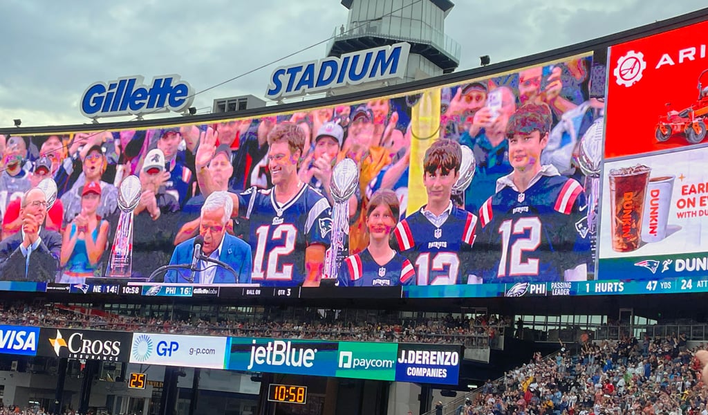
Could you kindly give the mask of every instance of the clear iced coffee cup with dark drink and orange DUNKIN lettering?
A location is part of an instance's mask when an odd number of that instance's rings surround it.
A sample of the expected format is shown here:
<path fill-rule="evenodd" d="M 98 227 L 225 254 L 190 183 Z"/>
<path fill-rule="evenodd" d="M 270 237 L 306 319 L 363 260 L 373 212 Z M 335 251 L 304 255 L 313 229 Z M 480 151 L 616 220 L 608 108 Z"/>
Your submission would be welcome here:
<path fill-rule="evenodd" d="M 651 168 L 642 165 L 610 170 L 612 249 L 629 252 L 641 242 L 644 195 Z"/>

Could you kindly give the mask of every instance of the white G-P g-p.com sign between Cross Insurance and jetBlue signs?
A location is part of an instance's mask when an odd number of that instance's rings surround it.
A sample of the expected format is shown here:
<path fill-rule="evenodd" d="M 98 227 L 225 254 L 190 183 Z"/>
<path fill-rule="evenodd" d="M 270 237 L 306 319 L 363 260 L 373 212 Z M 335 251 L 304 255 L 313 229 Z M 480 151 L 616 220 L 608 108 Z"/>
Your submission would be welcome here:
<path fill-rule="evenodd" d="M 226 344 L 226 337 L 134 333 L 130 363 L 223 369 Z"/>

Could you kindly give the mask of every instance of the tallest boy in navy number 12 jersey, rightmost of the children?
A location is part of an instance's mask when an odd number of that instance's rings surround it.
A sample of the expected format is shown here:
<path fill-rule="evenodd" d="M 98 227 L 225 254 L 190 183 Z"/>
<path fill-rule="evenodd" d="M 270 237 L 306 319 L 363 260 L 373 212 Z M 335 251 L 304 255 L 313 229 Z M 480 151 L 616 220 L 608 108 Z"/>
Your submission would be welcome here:
<path fill-rule="evenodd" d="M 479 249 L 496 253 L 484 264 L 485 283 L 587 280 L 592 261 L 583 186 L 541 164 L 552 115 L 527 104 L 509 119 L 513 171 L 479 209 Z"/>

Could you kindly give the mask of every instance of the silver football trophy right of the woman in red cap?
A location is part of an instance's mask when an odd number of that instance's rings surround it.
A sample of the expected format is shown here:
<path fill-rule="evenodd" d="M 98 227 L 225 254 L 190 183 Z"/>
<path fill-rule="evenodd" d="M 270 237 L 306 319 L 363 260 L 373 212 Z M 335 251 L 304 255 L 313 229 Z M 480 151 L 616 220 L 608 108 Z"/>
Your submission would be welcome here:
<path fill-rule="evenodd" d="M 133 210 L 140 203 L 142 186 L 137 176 L 127 176 L 118 189 L 118 207 L 120 218 L 115 229 L 113 247 L 110 249 L 108 262 L 109 277 L 129 278 L 132 268 L 132 233 Z"/>

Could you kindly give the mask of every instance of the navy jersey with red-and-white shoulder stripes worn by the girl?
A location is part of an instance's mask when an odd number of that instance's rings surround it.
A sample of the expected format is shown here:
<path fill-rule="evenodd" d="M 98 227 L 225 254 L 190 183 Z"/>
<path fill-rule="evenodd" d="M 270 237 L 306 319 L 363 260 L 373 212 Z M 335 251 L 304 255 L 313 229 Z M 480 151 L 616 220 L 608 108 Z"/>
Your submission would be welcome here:
<path fill-rule="evenodd" d="M 389 287 L 413 284 L 416 271 L 411 261 L 398 252 L 391 261 L 379 265 L 366 248 L 343 261 L 337 278 L 340 287 Z"/>

